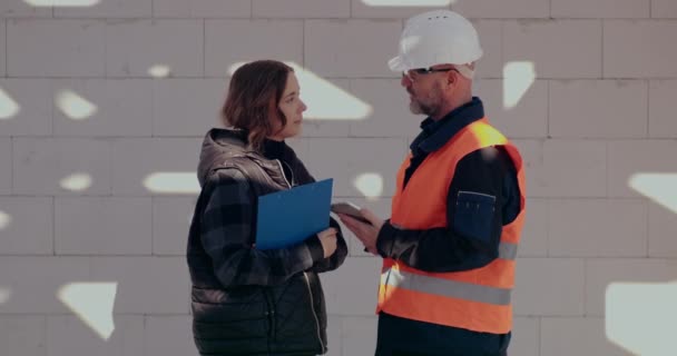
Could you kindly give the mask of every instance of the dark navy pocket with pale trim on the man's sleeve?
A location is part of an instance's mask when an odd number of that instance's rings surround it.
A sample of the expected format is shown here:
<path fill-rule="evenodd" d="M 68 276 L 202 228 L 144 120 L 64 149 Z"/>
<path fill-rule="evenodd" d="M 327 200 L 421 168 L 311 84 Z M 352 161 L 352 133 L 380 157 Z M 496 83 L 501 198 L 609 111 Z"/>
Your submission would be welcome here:
<path fill-rule="evenodd" d="M 464 237 L 489 243 L 494 205 L 494 196 L 460 190 L 453 216 L 454 230 Z"/>

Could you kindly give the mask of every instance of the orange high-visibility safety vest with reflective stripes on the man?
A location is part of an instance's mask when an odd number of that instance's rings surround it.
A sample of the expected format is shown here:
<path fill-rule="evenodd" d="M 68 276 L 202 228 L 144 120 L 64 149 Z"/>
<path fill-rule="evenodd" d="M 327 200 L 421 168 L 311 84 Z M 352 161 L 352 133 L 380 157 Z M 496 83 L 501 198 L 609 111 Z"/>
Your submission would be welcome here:
<path fill-rule="evenodd" d="M 484 267 L 454 273 L 422 271 L 384 258 L 376 313 L 480 333 L 506 334 L 512 329 L 510 295 L 524 220 L 524 171 L 517 147 L 485 118 L 470 123 L 431 152 L 416 168 L 406 189 L 403 189 L 404 171 L 411 154 L 404 159 L 398 172 L 391 224 L 403 229 L 449 227 L 447 197 L 458 162 L 470 152 L 490 146 L 507 149 L 520 188 L 520 212 L 503 226 L 499 257 Z"/>

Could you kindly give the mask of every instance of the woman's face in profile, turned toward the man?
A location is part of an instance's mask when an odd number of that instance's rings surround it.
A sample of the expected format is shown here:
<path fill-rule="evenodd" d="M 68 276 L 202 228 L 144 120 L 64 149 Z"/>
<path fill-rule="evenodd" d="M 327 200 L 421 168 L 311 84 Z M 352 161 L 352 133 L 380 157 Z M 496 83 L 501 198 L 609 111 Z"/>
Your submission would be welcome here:
<path fill-rule="evenodd" d="M 298 87 L 298 80 L 294 72 L 290 72 L 282 99 L 279 99 L 279 102 L 277 103 L 279 111 L 282 111 L 287 119 L 287 125 L 282 127 L 279 118 L 273 118 L 274 134 L 269 137 L 271 139 L 282 141 L 301 134 L 303 111 L 305 111 L 307 107 L 298 97 L 300 93 L 301 88 Z"/>

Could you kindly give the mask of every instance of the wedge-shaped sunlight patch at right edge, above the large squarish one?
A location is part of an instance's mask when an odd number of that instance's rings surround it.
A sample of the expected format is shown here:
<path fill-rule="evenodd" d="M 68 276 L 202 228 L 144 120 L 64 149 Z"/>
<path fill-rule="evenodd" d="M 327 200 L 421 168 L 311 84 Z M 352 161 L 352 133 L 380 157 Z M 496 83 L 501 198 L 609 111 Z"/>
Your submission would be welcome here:
<path fill-rule="evenodd" d="M 628 186 L 664 208 L 677 214 L 677 174 L 634 174 L 628 179 Z"/>

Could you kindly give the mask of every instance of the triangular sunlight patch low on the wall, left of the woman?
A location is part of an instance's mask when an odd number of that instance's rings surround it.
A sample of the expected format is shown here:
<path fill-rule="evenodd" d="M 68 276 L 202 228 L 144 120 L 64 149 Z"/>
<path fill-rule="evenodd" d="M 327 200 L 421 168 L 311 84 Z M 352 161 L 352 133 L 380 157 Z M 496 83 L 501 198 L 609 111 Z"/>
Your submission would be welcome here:
<path fill-rule="evenodd" d="M 112 307 L 117 289 L 117 283 L 70 283 L 59 288 L 57 298 L 107 340 L 115 330 Z"/>

